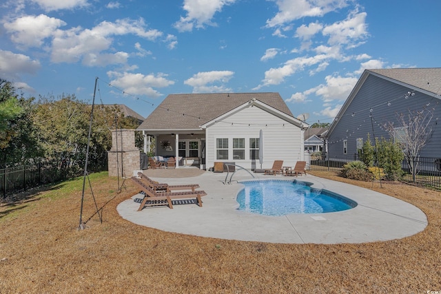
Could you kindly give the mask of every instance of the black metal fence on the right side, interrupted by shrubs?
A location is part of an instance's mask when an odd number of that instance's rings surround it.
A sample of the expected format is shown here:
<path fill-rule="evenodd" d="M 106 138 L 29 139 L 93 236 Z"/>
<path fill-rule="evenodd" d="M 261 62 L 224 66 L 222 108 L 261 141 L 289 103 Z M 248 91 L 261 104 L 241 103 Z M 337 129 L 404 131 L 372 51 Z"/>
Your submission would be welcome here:
<path fill-rule="evenodd" d="M 359 160 L 357 154 L 345 156 L 327 154 L 325 152 L 305 152 L 305 160 L 309 162 L 309 170 L 313 171 L 340 171 L 347 162 Z M 402 161 L 402 182 L 413 182 L 417 185 L 424 185 L 441 189 L 441 159 L 420 157 L 415 160 L 415 175 L 409 168 L 406 160 Z"/>

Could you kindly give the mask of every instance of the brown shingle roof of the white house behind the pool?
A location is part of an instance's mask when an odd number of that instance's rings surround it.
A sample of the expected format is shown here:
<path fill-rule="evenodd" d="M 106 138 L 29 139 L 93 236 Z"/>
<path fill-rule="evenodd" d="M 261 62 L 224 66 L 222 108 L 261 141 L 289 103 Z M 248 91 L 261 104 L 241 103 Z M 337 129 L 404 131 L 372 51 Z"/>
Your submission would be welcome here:
<path fill-rule="evenodd" d="M 209 123 L 253 98 L 293 117 L 278 93 L 170 94 L 138 129 L 200 129 L 201 125 Z"/>

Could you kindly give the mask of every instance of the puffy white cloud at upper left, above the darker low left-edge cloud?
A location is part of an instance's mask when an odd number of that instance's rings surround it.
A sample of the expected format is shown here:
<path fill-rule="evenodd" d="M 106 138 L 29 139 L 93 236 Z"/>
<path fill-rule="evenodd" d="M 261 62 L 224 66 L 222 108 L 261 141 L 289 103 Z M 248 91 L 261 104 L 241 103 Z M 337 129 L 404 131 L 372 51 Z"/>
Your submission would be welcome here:
<path fill-rule="evenodd" d="M 57 28 L 66 25 L 61 19 L 48 17 L 44 14 L 39 16 L 28 15 L 19 17 L 9 23 L 3 23 L 6 32 L 11 34 L 14 43 L 24 47 L 40 47 L 44 39 L 52 37 Z"/>

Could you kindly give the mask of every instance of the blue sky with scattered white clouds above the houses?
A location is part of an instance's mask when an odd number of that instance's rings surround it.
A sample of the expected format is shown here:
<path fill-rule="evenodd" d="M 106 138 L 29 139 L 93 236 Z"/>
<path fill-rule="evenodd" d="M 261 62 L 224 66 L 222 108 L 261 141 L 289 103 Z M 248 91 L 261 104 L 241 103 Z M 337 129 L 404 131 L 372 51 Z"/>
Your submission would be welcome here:
<path fill-rule="evenodd" d="M 438 0 L 6 0 L 0 77 L 142 116 L 168 94 L 278 92 L 331 123 L 363 70 L 441 66 Z M 178 109 L 176 109 L 178 111 Z"/>

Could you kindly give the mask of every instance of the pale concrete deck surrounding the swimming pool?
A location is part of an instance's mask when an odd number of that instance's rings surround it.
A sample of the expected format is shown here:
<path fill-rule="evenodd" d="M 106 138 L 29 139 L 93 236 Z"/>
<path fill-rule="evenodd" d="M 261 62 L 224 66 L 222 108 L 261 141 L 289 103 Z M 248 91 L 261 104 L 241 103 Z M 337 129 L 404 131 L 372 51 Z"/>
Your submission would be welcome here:
<path fill-rule="evenodd" d="M 149 207 L 136 211 L 136 194 L 121 202 L 117 211 L 125 220 L 162 231 L 227 240 L 270 243 L 338 244 L 376 242 L 405 238 L 427 227 L 427 216 L 418 207 L 391 196 L 343 182 L 316 176 L 300 176 L 314 189 L 338 193 L 358 203 L 357 207 L 330 213 L 263 216 L 239 211 L 236 196 L 249 175 L 236 175 L 224 185 L 225 175 L 205 172 L 192 178 L 153 178 L 170 185 L 198 183 L 207 192 L 203 207 L 196 204 Z M 293 180 L 285 176 L 256 174 L 255 180 Z"/>

